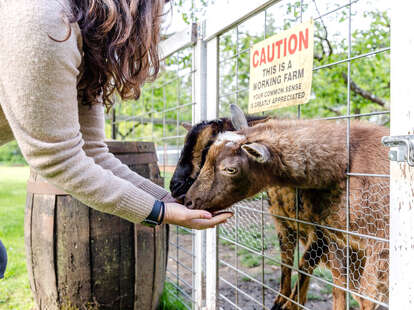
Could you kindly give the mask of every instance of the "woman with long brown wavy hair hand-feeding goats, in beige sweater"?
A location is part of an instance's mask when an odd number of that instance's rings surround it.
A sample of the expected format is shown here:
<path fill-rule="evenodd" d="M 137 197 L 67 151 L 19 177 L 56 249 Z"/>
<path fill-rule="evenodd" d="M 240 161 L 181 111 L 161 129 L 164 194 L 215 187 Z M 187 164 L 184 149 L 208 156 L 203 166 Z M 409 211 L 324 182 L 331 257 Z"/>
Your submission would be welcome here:
<path fill-rule="evenodd" d="M 0 145 L 14 138 L 39 175 L 134 223 L 195 229 L 228 215 L 189 210 L 108 152 L 104 106 L 139 97 L 159 71 L 164 0 L 0 3 Z M 164 204 L 165 202 L 165 204 Z"/>

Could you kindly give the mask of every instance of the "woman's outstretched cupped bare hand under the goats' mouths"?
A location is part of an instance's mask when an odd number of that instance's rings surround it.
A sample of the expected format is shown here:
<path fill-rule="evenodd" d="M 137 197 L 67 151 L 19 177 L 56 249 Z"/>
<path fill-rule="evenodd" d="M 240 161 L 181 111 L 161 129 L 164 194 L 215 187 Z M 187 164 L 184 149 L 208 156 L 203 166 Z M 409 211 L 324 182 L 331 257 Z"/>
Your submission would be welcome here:
<path fill-rule="evenodd" d="M 167 202 L 165 203 L 164 223 L 192 229 L 206 229 L 225 223 L 231 216 L 231 213 L 224 213 L 213 217 L 205 210 L 191 210 L 179 203 Z"/>

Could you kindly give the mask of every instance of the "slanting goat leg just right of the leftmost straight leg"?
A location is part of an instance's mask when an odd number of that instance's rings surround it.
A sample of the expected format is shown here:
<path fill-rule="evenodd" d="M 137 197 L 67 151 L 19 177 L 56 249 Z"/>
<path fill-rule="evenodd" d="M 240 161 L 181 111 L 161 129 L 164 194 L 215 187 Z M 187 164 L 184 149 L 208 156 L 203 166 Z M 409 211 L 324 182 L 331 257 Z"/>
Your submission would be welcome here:
<path fill-rule="evenodd" d="M 327 252 L 328 242 L 324 237 L 322 230 L 320 228 L 316 228 L 314 234 L 308 239 L 305 252 L 299 262 L 299 270 L 307 274 L 312 274 L 313 270 L 319 265 L 322 256 Z M 309 282 L 310 278 L 300 272 L 292 294 L 290 295 L 290 299 L 296 302 L 299 301 L 301 305 L 304 305 L 307 299 Z M 296 310 L 300 309 L 300 307 L 291 301 L 287 301 L 281 309 Z"/>

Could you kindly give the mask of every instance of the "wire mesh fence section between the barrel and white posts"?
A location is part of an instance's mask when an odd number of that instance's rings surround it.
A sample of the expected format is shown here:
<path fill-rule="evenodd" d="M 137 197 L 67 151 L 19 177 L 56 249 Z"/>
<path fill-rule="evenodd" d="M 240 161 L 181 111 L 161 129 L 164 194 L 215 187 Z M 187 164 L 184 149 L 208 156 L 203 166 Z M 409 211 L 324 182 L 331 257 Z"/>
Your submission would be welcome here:
<path fill-rule="evenodd" d="M 159 78 L 145 85 L 138 101 L 117 102 L 108 122 L 114 139 L 154 142 L 164 187 L 184 144 L 183 122 L 193 119 L 193 47 L 165 58 Z M 177 309 L 194 304 L 194 232 L 171 226 L 164 302 Z"/>

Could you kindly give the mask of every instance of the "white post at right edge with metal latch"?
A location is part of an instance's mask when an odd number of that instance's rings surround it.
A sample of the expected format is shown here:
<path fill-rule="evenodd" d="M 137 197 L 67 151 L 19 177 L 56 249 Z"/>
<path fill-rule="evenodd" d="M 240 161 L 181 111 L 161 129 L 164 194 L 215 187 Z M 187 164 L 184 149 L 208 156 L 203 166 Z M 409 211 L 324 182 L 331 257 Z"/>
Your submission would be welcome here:
<path fill-rule="evenodd" d="M 414 89 L 410 70 L 414 34 L 409 1 L 392 7 L 391 134 L 414 135 Z M 390 182 L 390 309 L 412 309 L 414 304 L 414 168 L 391 162 Z M 408 272 L 407 272 L 408 271 Z"/>

